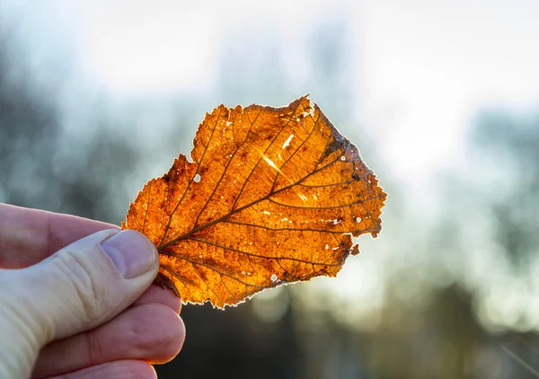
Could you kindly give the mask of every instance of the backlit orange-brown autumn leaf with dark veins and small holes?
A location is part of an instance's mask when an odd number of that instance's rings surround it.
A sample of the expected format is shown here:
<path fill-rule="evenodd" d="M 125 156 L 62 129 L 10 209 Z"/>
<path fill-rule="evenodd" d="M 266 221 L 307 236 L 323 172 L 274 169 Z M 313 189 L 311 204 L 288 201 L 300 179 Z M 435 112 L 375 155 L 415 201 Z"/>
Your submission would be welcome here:
<path fill-rule="evenodd" d="M 381 230 L 375 174 L 307 96 L 282 108 L 220 105 L 193 145 L 193 163 L 180 154 L 148 181 L 122 223 L 155 243 L 159 280 L 183 302 L 222 308 L 334 277 L 359 252 L 351 236 Z"/>

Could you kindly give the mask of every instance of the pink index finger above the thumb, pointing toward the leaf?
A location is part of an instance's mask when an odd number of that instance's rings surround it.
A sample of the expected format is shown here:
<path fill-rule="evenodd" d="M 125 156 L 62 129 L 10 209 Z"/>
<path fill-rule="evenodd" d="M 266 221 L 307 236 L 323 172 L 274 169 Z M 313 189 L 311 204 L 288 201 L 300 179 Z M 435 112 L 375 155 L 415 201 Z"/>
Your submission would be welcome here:
<path fill-rule="evenodd" d="M 118 225 L 0 203 L 0 268 L 22 269 L 87 235 Z"/>

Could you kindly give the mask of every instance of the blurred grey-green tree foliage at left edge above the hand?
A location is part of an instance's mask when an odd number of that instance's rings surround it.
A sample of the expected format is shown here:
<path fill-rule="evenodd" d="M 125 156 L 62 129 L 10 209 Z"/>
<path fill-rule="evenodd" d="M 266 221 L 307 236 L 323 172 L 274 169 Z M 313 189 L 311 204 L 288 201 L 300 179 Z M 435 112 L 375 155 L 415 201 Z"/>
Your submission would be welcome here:
<path fill-rule="evenodd" d="M 76 127 L 94 133 L 84 141 L 67 136 L 72 127 L 52 91 L 68 82 L 68 64 L 59 59 L 55 72 L 63 75 L 37 84 L 17 42 L 14 33 L 0 36 L 0 200 L 118 224 L 123 215 L 111 212 L 111 183 L 134 170 L 139 156 L 90 101 L 84 108 L 93 118 L 81 117 Z"/>

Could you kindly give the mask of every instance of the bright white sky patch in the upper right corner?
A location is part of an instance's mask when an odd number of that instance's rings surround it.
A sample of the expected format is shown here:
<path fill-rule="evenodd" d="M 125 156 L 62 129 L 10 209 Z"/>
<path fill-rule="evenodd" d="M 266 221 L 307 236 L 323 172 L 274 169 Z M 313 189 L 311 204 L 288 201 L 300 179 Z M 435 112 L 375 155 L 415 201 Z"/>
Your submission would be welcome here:
<path fill-rule="evenodd" d="M 401 179 L 462 164 L 482 107 L 539 104 L 539 2 L 373 0 L 358 12 L 367 122 Z"/>

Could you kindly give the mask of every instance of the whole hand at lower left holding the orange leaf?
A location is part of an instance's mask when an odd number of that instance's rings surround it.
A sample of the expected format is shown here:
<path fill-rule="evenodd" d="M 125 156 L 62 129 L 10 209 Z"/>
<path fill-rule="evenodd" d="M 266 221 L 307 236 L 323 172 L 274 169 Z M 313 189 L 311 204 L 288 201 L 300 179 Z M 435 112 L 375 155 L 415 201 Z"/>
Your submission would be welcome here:
<path fill-rule="evenodd" d="M 155 378 L 185 337 L 158 265 L 135 231 L 0 204 L 0 377 Z"/>

